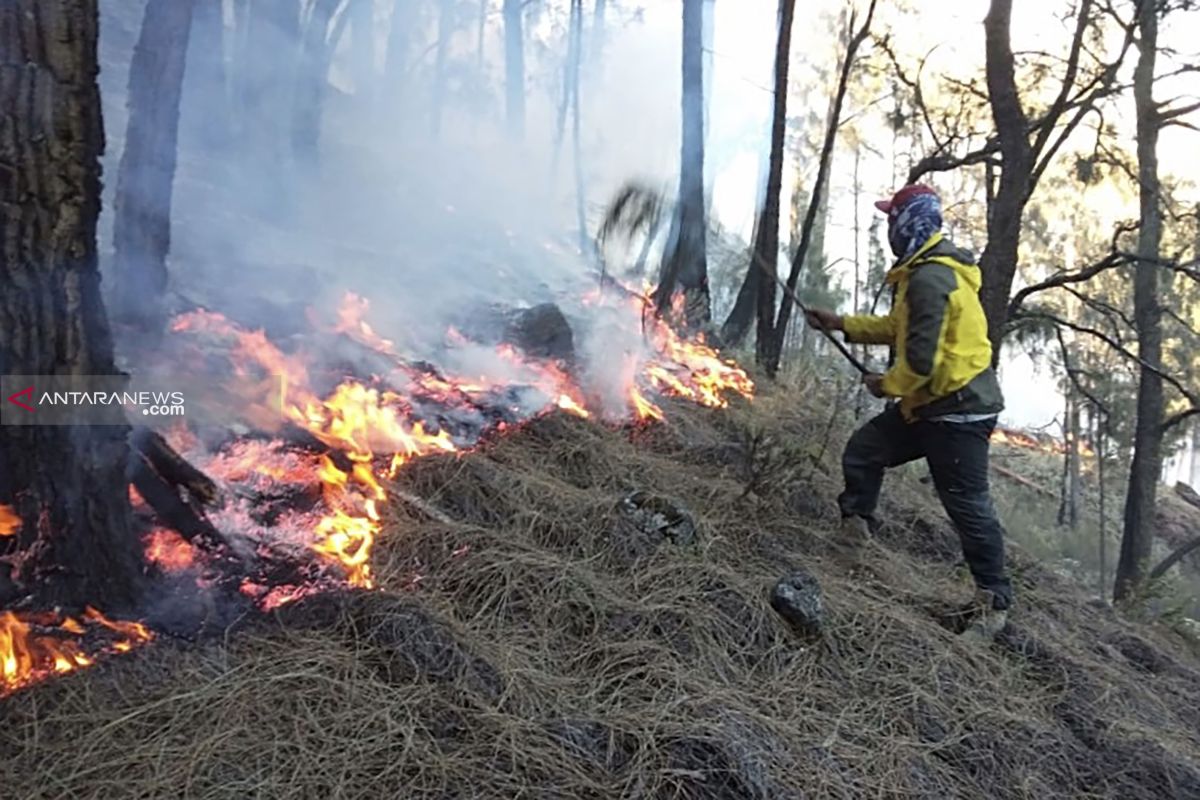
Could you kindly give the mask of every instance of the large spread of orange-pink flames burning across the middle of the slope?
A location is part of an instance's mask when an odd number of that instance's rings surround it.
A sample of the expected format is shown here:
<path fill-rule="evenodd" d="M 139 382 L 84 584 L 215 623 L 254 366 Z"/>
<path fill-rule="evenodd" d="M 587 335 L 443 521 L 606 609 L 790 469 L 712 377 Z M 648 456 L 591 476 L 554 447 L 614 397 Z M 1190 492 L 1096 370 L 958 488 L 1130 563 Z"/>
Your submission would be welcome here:
<path fill-rule="evenodd" d="M 623 312 L 636 314 L 630 317 L 630 323 L 643 324 L 641 313 L 649 291 L 647 287 L 643 294 L 630 293 L 632 302 Z M 263 425 L 260 414 L 274 410 L 275 425 L 296 425 L 348 458 L 348 464 L 342 462 L 340 465 L 334 458 L 323 456 L 314 465 L 326 512 L 312 528 L 310 547 L 341 565 L 352 585 L 364 588 L 374 585 L 370 555 L 380 529 L 379 509 L 388 500 L 382 481 L 394 477 L 414 458 L 458 451 L 446 429 L 431 428 L 416 419 L 414 404 L 432 401 L 442 408 L 467 409 L 478 416 L 479 409 L 496 407 L 503 402 L 497 398 L 504 398 L 505 392 L 520 385 L 540 392 L 545 397 L 545 410 L 558 409 L 581 417 L 592 415 L 580 386 L 562 366 L 529 360 L 508 344 L 494 348 L 497 361 L 503 365 L 499 371 L 503 377 L 439 375 L 415 368 L 397 355 L 394 342 L 379 336 L 366 321 L 368 309 L 366 299 L 347 294 L 332 330 L 389 356 L 395 363 L 394 372 L 389 373 L 390 387 L 382 387 L 377 380 L 344 379 L 332 391 L 318 393 L 310 383 L 302 354 L 286 355 L 260 330 L 242 330 L 221 314 L 206 311 L 185 314 L 172 326 L 176 332 L 216 337 L 226 345 L 236 378 L 228 389 L 234 397 L 246 402 L 251 411 L 247 421 L 271 429 Z M 746 373 L 722 361 L 703 338 L 684 339 L 659 319 L 648 325 L 648 337 L 652 353 L 634 357 L 623 389 L 630 413 L 637 420 L 665 419 L 662 409 L 649 399 L 647 391 L 712 408 L 726 407 L 726 396 L 731 392 L 752 397 L 754 383 Z M 452 327 L 446 331 L 446 343 L 451 347 L 468 344 Z M 277 403 L 268 399 L 276 396 Z M 388 467 L 377 469 L 379 463 Z M 244 461 L 240 471 L 234 465 L 230 469 L 227 480 L 244 479 L 251 473 L 275 480 L 293 477 L 280 465 L 264 465 L 250 458 Z M 278 602 L 288 602 L 289 596 L 281 594 Z"/>

